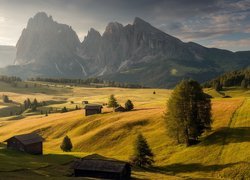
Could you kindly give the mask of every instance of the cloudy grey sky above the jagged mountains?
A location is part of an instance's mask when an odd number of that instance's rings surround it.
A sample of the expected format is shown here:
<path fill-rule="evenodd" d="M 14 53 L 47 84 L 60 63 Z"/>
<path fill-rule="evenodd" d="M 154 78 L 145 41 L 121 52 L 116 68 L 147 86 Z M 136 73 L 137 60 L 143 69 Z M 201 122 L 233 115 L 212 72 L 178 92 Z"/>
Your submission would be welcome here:
<path fill-rule="evenodd" d="M 103 33 L 109 22 L 140 17 L 184 42 L 250 50 L 250 0 L 0 0 L 0 45 L 16 45 L 37 12 L 72 26 L 81 41 L 91 27 Z"/>

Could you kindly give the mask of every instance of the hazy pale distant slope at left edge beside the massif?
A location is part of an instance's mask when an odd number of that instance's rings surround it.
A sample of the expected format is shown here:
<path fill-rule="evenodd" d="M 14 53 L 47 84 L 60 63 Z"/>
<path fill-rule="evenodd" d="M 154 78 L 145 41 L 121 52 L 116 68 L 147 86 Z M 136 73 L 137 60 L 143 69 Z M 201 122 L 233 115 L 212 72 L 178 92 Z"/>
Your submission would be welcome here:
<path fill-rule="evenodd" d="M 16 56 L 14 46 L 0 46 L 0 68 L 12 65 Z"/>

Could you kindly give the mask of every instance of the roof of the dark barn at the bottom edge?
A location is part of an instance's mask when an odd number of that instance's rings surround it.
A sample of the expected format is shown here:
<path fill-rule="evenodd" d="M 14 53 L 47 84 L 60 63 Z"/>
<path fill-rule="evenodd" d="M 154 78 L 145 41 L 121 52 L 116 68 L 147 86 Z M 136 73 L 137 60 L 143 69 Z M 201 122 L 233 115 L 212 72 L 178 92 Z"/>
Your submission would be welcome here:
<path fill-rule="evenodd" d="M 73 168 L 88 171 L 115 172 L 123 171 L 128 163 L 107 158 L 93 158 L 90 156 L 75 161 Z"/>

